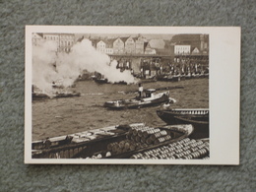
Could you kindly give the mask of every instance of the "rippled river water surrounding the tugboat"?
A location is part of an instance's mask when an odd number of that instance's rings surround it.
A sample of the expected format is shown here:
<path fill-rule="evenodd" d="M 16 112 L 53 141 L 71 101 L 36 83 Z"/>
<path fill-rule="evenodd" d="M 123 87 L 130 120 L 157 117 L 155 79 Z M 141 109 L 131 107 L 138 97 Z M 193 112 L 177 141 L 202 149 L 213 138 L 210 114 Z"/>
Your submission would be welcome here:
<path fill-rule="evenodd" d="M 170 97 L 176 99 L 171 107 L 209 107 L 209 79 L 154 82 L 143 84 L 143 87 L 144 89 L 183 87 L 183 89 L 170 90 Z M 165 124 L 156 113 L 157 109 L 162 108 L 162 104 L 125 110 L 109 110 L 102 107 L 107 100 L 135 97 L 135 94 L 122 92 L 136 91 L 138 85 L 98 85 L 94 81 L 83 81 L 78 82 L 72 90 L 81 93 L 82 96 L 32 101 L 32 141 L 118 124 L 139 122 L 144 122 L 148 126 Z"/>

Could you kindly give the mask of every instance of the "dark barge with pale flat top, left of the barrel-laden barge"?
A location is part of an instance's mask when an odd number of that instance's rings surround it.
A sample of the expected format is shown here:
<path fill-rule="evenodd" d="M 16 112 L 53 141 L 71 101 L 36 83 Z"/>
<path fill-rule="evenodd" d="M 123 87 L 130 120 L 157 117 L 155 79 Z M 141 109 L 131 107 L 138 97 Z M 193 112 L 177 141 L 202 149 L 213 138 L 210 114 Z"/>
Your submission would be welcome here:
<path fill-rule="evenodd" d="M 106 128 L 107 129 L 107 128 Z M 110 130 L 100 132 L 98 130 L 60 136 L 46 140 L 32 142 L 33 159 L 75 159 L 82 154 L 93 156 L 96 152 L 106 151 L 106 146 L 111 142 L 119 142 L 125 139 L 125 129 L 116 129 L 112 126 Z M 107 133 L 107 134 L 106 134 Z M 90 138 L 91 137 L 91 138 Z"/>

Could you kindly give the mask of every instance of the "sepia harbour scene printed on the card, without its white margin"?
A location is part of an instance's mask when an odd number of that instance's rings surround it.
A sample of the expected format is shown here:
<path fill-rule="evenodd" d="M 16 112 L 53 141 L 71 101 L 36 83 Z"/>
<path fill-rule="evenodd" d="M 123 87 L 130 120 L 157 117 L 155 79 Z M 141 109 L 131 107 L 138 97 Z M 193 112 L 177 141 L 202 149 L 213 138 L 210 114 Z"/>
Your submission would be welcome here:
<path fill-rule="evenodd" d="M 30 159 L 208 163 L 210 33 L 32 32 Z"/>

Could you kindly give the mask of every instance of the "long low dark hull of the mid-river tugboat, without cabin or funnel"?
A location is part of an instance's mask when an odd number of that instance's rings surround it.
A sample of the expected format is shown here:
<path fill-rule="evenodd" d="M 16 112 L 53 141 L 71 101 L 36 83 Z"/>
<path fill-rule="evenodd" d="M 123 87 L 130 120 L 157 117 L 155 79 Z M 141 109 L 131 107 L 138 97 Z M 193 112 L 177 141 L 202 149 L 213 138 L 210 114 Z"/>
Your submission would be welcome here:
<path fill-rule="evenodd" d="M 125 109 L 125 108 L 132 109 L 132 108 L 141 108 L 141 107 L 160 105 L 161 103 L 168 101 L 168 99 L 169 99 L 168 96 L 161 96 L 160 98 L 157 98 L 151 101 L 142 101 L 142 102 L 138 102 L 138 100 L 136 101 L 120 100 L 119 105 L 116 105 L 114 102 L 105 102 L 104 106 L 110 109 Z"/>

